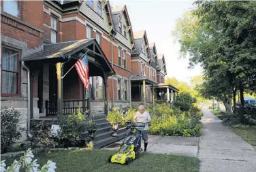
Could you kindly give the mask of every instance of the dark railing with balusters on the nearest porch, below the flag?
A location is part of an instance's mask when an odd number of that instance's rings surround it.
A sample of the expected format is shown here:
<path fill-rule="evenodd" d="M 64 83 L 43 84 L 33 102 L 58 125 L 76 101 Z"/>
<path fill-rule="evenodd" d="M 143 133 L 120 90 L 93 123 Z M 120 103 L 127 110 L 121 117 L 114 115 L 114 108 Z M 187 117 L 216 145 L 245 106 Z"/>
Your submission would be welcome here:
<path fill-rule="evenodd" d="M 63 114 L 72 114 L 78 112 L 80 108 L 81 112 L 84 113 L 86 110 L 91 110 L 91 103 L 87 100 L 63 100 Z M 57 114 L 57 101 L 46 100 L 46 115 Z"/>

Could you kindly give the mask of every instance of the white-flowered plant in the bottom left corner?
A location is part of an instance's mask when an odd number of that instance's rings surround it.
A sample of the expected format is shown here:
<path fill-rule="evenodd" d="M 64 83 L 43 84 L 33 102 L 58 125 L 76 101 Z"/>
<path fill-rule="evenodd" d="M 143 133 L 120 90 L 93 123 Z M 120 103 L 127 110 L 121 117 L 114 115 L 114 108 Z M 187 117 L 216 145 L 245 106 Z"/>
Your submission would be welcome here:
<path fill-rule="evenodd" d="M 43 165 L 41 169 L 39 168 L 39 164 L 37 164 L 37 159 L 33 160 L 34 158 L 33 152 L 31 149 L 28 149 L 21 157 L 20 160 L 14 160 L 14 162 L 5 169 L 5 160 L 1 161 L 1 171 L 52 171 L 54 172 L 56 167 L 56 163 L 52 162 L 52 160 L 48 160 L 46 165 Z"/>

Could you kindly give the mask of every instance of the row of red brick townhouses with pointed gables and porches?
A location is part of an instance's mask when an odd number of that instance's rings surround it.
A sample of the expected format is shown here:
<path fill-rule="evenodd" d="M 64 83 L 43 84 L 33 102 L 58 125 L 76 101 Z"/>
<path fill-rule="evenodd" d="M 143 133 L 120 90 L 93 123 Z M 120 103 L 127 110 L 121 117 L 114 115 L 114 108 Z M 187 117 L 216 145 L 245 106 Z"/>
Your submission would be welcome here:
<path fill-rule="evenodd" d="M 84 53 L 89 91 L 72 68 Z M 97 115 L 109 106 L 172 102 L 178 89 L 164 84 L 165 75 L 164 55 L 145 30 L 132 29 L 125 5 L 1 1 L 1 107 L 20 110 L 23 121 L 78 106 Z"/>

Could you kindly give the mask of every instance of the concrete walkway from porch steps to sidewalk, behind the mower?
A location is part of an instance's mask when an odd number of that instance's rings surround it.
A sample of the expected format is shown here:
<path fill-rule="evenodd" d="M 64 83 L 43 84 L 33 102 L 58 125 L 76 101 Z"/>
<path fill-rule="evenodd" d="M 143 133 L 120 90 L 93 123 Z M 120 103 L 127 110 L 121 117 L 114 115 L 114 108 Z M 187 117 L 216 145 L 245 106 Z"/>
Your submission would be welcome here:
<path fill-rule="evenodd" d="M 118 150 L 123 140 L 107 146 L 107 150 Z M 161 137 L 159 135 L 148 136 L 148 153 L 155 154 L 179 154 L 197 157 L 199 137 Z M 142 142 L 142 148 L 144 144 Z"/>

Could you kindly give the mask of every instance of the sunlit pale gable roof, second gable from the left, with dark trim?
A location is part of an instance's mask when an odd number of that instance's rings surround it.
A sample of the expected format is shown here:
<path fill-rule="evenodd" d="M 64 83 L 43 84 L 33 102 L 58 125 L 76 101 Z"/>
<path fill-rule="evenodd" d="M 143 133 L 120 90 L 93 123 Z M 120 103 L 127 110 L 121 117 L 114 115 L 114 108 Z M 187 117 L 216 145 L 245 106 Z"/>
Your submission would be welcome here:
<path fill-rule="evenodd" d="M 116 7 L 112 7 L 112 15 L 115 16 L 115 15 L 121 15 L 124 14 L 125 18 L 126 18 L 126 22 L 129 26 L 129 35 L 131 36 L 131 40 L 132 40 L 132 44 L 134 45 L 135 42 L 134 42 L 134 35 L 133 35 L 133 29 L 132 29 L 132 26 L 131 26 L 131 21 L 130 21 L 130 18 L 129 18 L 129 14 L 127 12 L 127 7 L 126 5 L 121 5 L 121 6 L 116 6 Z M 119 18 L 114 18 L 114 24 L 115 26 L 117 27 L 118 26 L 118 22 L 119 22 Z M 114 27 L 114 28 L 116 28 Z"/>

